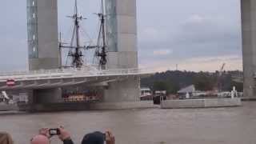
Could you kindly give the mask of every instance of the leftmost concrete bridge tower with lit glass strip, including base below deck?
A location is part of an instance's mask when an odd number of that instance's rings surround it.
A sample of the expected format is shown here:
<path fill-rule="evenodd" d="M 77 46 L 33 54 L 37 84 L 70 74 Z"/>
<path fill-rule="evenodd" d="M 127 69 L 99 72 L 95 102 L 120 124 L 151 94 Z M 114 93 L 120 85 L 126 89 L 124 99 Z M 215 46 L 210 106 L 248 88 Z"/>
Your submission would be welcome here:
<path fill-rule="evenodd" d="M 27 31 L 30 70 L 58 69 L 58 2 L 27 0 Z M 61 89 L 31 90 L 33 103 L 59 102 Z"/>

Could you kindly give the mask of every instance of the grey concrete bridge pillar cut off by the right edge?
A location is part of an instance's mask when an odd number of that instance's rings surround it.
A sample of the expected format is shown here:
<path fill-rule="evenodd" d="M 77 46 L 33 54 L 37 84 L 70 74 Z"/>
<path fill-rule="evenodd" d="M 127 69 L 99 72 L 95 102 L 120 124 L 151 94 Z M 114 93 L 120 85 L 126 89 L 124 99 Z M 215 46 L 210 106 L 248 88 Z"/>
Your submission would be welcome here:
<path fill-rule="evenodd" d="M 254 72 L 256 72 L 256 1 L 241 0 L 241 12 L 244 97 L 256 99 L 254 85 Z"/>

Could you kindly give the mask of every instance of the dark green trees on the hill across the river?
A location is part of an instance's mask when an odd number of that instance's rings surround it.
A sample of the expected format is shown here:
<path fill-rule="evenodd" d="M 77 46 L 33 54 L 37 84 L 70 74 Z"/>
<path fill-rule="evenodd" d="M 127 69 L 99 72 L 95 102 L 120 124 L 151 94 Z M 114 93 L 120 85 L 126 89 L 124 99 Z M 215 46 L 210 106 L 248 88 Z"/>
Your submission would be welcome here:
<path fill-rule="evenodd" d="M 240 92 L 243 90 L 242 83 L 234 82 L 232 76 L 242 75 L 242 71 L 224 71 L 220 74 L 218 71 L 210 72 L 192 72 L 192 71 L 166 71 L 156 73 L 150 77 L 141 79 L 142 87 L 150 87 L 151 90 L 166 90 L 167 94 L 177 94 L 183 87 L 194 85 L 196 90 L 214 90 L 216 88 L 222 91 L 231 91 L 233 86 Z"/>

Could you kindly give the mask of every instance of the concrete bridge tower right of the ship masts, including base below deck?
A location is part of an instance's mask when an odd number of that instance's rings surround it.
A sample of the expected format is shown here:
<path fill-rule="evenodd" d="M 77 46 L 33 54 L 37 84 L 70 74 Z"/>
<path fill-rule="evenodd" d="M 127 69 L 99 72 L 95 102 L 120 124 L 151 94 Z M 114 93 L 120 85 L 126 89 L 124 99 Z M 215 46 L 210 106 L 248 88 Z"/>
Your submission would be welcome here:
<path fill-rule="evenodd" d="M 109 69 L 138 68 L 136 0 L 106 0 Z M 104 102 L 137 102 L 140 78 L 110 82 Z"/>

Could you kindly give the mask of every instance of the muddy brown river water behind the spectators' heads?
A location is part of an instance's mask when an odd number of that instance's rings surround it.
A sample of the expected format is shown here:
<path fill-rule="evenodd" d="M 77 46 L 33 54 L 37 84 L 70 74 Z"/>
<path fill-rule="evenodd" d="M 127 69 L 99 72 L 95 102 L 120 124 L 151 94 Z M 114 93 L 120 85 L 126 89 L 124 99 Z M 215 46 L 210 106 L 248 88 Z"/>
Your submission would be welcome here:
<path fill-rule="evenodd" d="M 0 114 L 0 130 L 29 144 L 41 127 L 64 126 L 74 142 L 95 130 L 112 130 L 118 144 L 254 144 L 256 102 L 242 107 L 179 110 L 110 110 Z M 62 143 L 52 138 L 51 143 Z"/>

